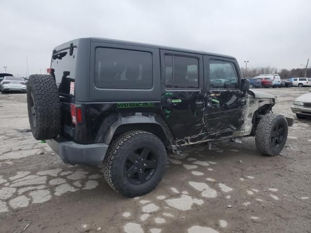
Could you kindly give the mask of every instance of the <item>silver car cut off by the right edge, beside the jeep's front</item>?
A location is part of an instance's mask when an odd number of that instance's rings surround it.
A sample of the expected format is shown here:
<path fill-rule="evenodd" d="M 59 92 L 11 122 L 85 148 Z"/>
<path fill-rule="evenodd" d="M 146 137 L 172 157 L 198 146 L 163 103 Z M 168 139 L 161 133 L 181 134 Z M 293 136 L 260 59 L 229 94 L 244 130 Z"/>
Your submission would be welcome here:
<path fill-rule="evenodd" d="M 292 105 L 292 111 L 296 114 L 297 118 L 305 118 L 311 116 L 311 89 L 310 93 L 299 96 Z"/>

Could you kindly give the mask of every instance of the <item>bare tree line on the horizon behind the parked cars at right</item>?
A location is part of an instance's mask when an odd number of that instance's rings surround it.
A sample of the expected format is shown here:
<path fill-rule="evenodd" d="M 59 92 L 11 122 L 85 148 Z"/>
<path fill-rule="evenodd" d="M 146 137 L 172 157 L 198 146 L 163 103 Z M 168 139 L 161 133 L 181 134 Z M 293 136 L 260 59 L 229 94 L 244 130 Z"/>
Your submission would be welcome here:
<path fill-rule="evenodd" d="M 245 73 L 245 67 L 241 67 L 243 76 L 245 78 L 253 78 L 259 74 L 273 74 L 277 73 L 280 75 L 281 79 L 298 78 L 305 77 L 305 68 L 293 68 L 288 69 L 278 69 L 276 67 L 247 67 Z M 307 78 L 311 78 L 311 68 L 307 69 Z"/>

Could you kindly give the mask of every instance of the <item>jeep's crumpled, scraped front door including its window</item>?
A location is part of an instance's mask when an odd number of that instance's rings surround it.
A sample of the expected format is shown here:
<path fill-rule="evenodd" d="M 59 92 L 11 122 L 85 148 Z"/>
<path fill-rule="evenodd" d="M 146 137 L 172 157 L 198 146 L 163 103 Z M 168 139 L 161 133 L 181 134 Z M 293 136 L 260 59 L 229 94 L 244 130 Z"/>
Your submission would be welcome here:
<path fill-rule="evenodd" d="M 234 59 L 205 56 L 205 66 L 205 138 L 242 135 L 246 97 L 241 92 L 237 62 Z"/>

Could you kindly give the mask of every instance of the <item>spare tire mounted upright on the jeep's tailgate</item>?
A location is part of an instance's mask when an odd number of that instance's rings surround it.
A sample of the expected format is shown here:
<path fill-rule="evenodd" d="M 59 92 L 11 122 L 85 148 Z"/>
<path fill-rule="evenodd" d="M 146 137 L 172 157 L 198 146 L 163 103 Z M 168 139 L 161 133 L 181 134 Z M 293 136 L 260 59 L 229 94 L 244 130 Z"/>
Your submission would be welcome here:
<path fill-rule="evenodd" d="M 61 127 L 61 105 L 52 76 L 35 74 L 29 77 L 27 109 L 31 132 L 36 140 L 57 137 Z"/>

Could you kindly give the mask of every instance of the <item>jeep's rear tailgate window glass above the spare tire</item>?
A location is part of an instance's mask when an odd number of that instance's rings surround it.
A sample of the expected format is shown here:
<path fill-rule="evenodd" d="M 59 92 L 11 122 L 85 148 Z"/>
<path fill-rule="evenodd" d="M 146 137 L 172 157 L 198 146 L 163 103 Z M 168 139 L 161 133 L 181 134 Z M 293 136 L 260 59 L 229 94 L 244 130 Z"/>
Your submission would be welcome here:
<path fill-rule="evenodd" d="M 59 50 L 52 56 L 51 68 L 54 69 L 54 75 L 58 91 L 69 95 L 70 83 L 74 82 L 76 70 L 77 48 L 73 47 L 72 55 L 69 54 L 69 48 Z"/>

